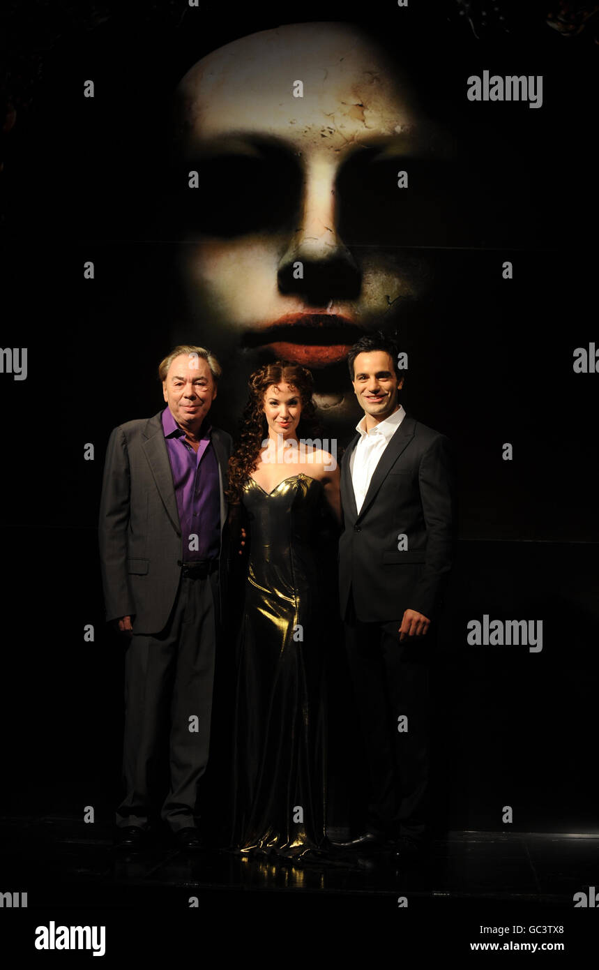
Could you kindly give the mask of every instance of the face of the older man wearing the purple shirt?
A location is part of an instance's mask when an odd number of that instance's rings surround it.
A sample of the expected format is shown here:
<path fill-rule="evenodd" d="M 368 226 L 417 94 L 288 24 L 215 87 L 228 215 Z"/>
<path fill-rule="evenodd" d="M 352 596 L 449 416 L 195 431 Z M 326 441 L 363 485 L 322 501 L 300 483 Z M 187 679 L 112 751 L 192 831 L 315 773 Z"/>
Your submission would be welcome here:
<path fill-rule="evenodd" d="M 207 362 L 196 354 L 174 358 L 162 389 L 176 423 L 190 430 L 200 427 L 216 397 Z"/>

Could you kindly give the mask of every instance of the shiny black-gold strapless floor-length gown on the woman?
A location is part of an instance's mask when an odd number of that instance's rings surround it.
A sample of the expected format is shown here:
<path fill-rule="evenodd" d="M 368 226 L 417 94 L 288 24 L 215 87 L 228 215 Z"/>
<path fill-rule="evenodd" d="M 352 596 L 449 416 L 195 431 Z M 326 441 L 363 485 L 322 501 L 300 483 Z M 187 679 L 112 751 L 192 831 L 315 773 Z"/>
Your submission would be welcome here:
<path fill-rule="evenodd" d="M 325 845 L 324 663 L 316 537 L 323 486 L 291 475 L 242 502 L 249 569 L 239 642 L 233 847 L 297 858 Z"/>

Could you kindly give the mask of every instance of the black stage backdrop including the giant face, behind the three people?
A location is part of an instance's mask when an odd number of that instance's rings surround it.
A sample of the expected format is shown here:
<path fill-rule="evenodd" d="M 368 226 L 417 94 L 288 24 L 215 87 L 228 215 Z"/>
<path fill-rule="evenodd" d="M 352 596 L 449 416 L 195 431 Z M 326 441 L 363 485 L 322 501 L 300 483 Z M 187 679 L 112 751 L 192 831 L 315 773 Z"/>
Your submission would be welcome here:
<path fill-rule="evenodd" d="M 382 329 L 402 404 L 457 455 L 440 823 L 497 828 L 511 805 L 515 828 L 596 826 L 597 51 L 512 5 L 510 33 L 483 36 L 460 6 L 350 22 L 307 4 L 294 24 L 81 4 L 20 49 L 1 175 L 6 810 L 111 818 L 122 645 L 98 501 L 110 430 L 164 406 L 160 359 L 183 340 L 219 356 L 212 413 L 234 435 L 251 370 L 299 360 L 340 454 L 361 413 L 347 347 Z M 343 826 L 363 791 L 334 613 L 331 593 Z M 536 623 L 542 649 L 468 644 L 485 617 Z"/>

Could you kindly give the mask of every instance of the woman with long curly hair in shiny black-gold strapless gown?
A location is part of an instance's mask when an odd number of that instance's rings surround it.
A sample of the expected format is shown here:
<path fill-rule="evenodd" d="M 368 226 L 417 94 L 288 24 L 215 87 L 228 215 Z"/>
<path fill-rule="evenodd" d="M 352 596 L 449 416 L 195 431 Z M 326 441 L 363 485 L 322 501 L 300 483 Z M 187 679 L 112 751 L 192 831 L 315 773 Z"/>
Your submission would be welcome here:
<path fill-rule="evenodd" d="M 276 361 L 252 373 L 249 387 L 230 462 L 230 501 L 248 550 L 231 841 L 244 854 L 297 860 L 327 847 L 321 621 L 331 603 L 319 538 L 340 521 L 339 469 L 336 448 L 314 438 L 309 371 Z"/>

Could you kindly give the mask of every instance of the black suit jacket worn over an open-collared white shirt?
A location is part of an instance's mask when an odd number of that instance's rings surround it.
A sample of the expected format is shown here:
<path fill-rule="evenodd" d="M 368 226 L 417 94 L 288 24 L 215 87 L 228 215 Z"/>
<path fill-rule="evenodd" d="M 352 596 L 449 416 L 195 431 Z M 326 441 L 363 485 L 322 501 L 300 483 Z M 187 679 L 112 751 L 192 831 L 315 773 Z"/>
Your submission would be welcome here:
<path fill-rule="evenodd" d="M 349 463 L 359 439 L 357 434 L 341 462 L 341 616 L 351 589 L 356 615 L 364 622 L 400 620 L 406 609 L 432 620 L 452 566 L 450 440 L 406 414 L 374 470 L 358 514 Z M 397 548 L 400 534 L 407 536 L 403 551 Z"/>

